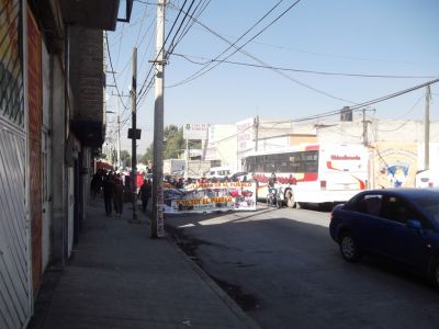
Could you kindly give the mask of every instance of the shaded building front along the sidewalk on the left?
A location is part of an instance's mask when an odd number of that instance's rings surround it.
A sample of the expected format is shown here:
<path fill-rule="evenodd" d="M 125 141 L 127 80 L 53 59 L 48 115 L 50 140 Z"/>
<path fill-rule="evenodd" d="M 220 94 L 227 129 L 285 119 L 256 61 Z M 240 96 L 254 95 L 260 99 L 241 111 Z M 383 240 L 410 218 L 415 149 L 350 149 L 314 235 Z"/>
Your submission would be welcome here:
<path fill-rule="evenodd" d="M 79 239 L 119 7 L 0 0 L 0 328 L 26 327 L 44 271 Z"/>

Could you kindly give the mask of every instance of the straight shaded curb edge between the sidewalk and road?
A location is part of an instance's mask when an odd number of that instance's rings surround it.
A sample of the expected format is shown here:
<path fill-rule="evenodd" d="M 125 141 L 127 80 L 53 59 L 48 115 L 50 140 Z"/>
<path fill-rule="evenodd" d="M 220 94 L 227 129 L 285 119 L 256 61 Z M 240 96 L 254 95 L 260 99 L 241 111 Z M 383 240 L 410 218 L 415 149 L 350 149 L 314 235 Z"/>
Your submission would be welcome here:
<path fill-rule="evenodd" d="M 173 245 L 177 251 L 182 256 L 182 258 L 191 265 L 191 268 L 196 272 L 196 274 L 214 291 L 214 293 L 227 305 L 227 307 L 239 318 L 247 328 L 249 329 L 262 329 L 250 316 L 248 316 L 236 302 L 227 295 L 212 279 L 209 276 L 203 269 L 201 269 L 188 254 L 184 253 L 180 247 L 171 240 L 167 235 L 166 239 L 169 243 Z"/>

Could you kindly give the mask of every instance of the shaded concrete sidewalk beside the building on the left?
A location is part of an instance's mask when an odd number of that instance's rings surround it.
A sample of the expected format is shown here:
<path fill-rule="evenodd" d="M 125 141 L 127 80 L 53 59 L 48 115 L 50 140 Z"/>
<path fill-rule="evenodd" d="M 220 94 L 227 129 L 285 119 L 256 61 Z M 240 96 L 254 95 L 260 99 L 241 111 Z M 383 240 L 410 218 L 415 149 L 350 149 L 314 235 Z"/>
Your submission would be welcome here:
<path fill-rule="evenodd" d="M 150 239 L 149 220 L 105 217 L 88 207 L 72 259 L 46 271 L 27 328 L 259 328 L 167 238 Z"/>

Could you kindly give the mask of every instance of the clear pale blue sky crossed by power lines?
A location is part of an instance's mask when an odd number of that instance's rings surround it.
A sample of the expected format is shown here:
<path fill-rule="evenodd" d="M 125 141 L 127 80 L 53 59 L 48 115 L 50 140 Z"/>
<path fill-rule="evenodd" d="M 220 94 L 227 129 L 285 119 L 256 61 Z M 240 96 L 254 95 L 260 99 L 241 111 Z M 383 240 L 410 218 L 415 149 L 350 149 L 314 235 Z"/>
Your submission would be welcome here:
<path fill-rule="evenodd" d="M 165 67 L 165 125 L 234 124 L 256 115 L 261 120 L 301 118 L 439 78 L 437 0 L 194 0 L 189 10 L 191 2 L 168 0 L 166 8 L 165 36 L 169 34 L 169 38 L 165 49 L 169 52 L 184 11 L 191 12 L 199 3 L 199 8 L 205 5 L 199 23 L 194 22 L 177 43 Z M 116 31 L 108 32 L 114 75 L 106 73 L 106 83 L 114 84 L 115 79 L 122 94 L 130 93 L 133 47 L 137 47 L 137 91 L 144 91 L 143 86 L 149 82 L 146 77 L 156 54 L 156 0 L 134 0 L 131 22 L 119 22 Z M 182 7 L 183 12 L 171 31 Z M 121 5 L 120 18 L 123 10 Z M 240 47 L 262 31 L 241 48 L 247 55 L 236 52 L 226 59 L 238 64 L 221 63 L 184 82 L 204 67 L 202 64 L 229 48 L 225 39 L 236 42 L 259 20 L 236 43 Z M 187 18 L 185 22 L 192 21 Z M 230 48 L 218 59 L 234 52 Z M 108 54 L 106 64 L 106 70 L 112 71 Z M 106 88 L 108 111 L 116 111 L 116 93 L 115 88 Z M 426 88 L 405 93 L 369 106 L 374 110 L 369 113 L 376 118 L 423 120 L 425 93 Z M 131 100 L 121 99 L 121 144 L 122 149 L 131 151 L 131 140 L 126 138 Z M 439 120 L 439 83 L 431 84 L 430 118 Z M 109 113 L 106 120 L 108 139 L 114 140 L 115 114 Z M 142 128 L 137 154 L 142 155 L 153 141 L 154 87 L 138 99 L 137 125 Z"/>

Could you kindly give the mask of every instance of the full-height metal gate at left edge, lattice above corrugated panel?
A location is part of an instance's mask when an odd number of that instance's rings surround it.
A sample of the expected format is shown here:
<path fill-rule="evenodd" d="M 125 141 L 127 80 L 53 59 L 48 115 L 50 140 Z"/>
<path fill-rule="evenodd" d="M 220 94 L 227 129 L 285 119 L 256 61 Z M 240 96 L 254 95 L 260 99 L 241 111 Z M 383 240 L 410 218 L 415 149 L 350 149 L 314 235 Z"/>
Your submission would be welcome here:
<path fill-rule="evenodd" d="M 21 3 L 0 0 L 0 328 L 31 316 Z"/>

